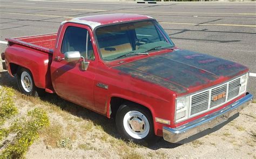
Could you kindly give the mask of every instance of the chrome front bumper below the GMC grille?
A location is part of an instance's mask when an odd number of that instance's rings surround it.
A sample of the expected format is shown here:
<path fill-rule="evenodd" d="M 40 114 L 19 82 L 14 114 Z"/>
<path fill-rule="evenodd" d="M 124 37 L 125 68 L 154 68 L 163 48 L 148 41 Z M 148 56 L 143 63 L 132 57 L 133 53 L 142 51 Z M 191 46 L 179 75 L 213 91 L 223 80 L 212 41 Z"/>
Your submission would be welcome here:
<path fill-rule="evenodd" d="M 185 125 L 181 125 L 176 128 L 163 127 L 164 140 L 176 143 L 206 129 L 220 125 L 250 104 L 252 98 L 253 95 L 247 93 L 245 97 L 224 107 L 223 109 L 212 114 L 207 114 L 204 117 L 188 122 Z"/>

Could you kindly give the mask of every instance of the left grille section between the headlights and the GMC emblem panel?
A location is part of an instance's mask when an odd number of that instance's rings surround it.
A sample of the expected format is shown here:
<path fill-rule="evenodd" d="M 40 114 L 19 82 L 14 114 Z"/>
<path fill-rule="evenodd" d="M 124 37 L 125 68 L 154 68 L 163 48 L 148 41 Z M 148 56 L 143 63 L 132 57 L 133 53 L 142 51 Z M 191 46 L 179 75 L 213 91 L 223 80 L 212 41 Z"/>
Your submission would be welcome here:
<path fill-rule="evenodd" d="M 192 96 L 191 115 L 208 109 L 209 91 Z"/>

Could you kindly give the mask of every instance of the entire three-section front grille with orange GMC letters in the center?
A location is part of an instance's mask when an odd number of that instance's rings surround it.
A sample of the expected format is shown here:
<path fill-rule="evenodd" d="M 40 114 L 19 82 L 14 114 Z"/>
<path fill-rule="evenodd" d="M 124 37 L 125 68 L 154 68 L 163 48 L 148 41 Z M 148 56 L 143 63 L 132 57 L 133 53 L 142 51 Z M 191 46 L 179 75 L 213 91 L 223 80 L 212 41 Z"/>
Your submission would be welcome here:
<path fill-rule="evenodd" d="M 237 78 L 220 86 L 192 95 L 189 116 L 206 112 L 207 110 L 227 103 L 229 100 L 238 97 L 239 89 L 240 78 Z"/>

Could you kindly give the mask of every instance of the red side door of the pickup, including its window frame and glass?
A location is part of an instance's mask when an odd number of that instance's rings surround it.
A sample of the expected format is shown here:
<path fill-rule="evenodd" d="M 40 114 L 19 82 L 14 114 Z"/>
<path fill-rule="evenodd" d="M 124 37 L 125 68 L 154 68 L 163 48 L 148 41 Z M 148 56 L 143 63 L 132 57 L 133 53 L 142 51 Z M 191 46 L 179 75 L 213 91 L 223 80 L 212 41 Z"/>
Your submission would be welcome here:
<path fill-rule="evenodd" d="M 98 59 L 95 58 L 95 46 L 92 45 L 92 31 L 85 25 L 66 23 L 59 35 L 51 64 L 53 88 L 57 95 L 73 103 L 95 110 L 93 82 Z M 65 52 L 79 51 L 89 61 L 86 71 L 81 62 L 66 62 Z M 87 54 L 86 54 L 87 53 Z M 87 59 L 86 59 L 87 55 Z"/>

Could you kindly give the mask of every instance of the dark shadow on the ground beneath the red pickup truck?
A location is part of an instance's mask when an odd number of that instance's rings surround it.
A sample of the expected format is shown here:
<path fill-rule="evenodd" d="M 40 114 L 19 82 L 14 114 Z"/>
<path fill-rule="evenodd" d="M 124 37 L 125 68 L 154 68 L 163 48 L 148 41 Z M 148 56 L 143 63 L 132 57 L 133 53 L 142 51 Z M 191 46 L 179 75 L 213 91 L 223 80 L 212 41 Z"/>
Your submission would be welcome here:
<path fill-rule="evenodd" d="M 10 77 L 6 71 L 0 72 L 0 85 L 8 86 L 18 91 L 16 78 Z M 117 132 L 114 119 L 108 119 L 103 115 L 100 115 L 96 112 L 85 109 L 82 106 L 68 102 L 60 98 L 56 94 L 48 93 L 46 94 L 45 97 L 40 97 L 40 99 L 43 100 L 44 102 L 48 102 L 53 105 L 56 105 L 61 110 L 66 111 L 72 115 L 75 115 L 76 117 L 82 118 L 84 120 L 91 120 L 93 122 L 93 125 L 101 126 L 104 132 L 106 132 L 107 134 L 110 134 L 111 136 L 117 139 L 121 138 L 121 136 Z M 126 142 L 128 143 L 129 141 L 126 141 Z M 181 145 L 181 144 L 164 141 L 163 138 L 160 138 L 160 137 L 157 137 L 153 141 L 143 142 L 139 144 L 152 150 L 157 150 L 160 148 L 176 148 Z"/>

